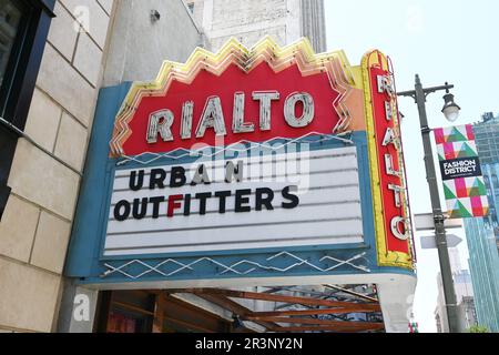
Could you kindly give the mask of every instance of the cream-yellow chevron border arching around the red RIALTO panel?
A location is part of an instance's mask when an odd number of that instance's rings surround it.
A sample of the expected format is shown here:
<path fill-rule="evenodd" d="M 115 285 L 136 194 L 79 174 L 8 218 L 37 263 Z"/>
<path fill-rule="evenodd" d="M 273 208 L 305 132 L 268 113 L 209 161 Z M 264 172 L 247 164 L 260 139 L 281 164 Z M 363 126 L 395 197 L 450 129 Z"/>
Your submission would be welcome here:
<path fill-rule="evenodd" d="M 216 54 L 197 48 L 185 63 L 164 61 L 154 81 L 135 82 L 116 116 L 111 153 L 114 156 L 124 155 L 123 144 L 132 134 L 129 122 L 142 98 L 165 95 L 173 81 L 190 84 L 202 70 L 221 75 L 231 64 L 236 64 L 249 73 L 262 62 L 267 62 L 276 73 L 292 65 L 297 65 L 304 77 L 326 72 L 332 89 L 339 93 L 332 104 L 340 120 L 332 133 L 349 129 L 352 113 L 345 102 L 353 91 L 355 79 L 343 51 L 316 54 L 307 39 L 281 48 L 271 37 L 247 49 L 232 38 Z"/>

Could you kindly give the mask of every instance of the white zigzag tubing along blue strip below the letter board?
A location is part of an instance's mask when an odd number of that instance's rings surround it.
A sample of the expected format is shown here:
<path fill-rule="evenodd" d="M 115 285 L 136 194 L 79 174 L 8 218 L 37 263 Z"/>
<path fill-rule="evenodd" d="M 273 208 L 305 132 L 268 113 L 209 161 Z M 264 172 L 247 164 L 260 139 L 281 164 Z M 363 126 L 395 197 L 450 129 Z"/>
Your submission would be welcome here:
<path fill-rule="evenodd" d="M 337 257 L 326 255 L 323 258 L 320 258 L 320 262 L 324 262 L 325 265 L 315 265 L 315 264 L 310 263 L 309 261 L 302 258 L 299 256 L 296 256 L 289 252 L 281 252 L 271 257 L 267 257 L 266 261 L 268 262 L 268 264 L 265 264 L 265 265 L 262 265 L 261 263 L 249 261 L 249 260 L 242 260 L 242 261 L 238 261 L 231 265 L 225 265 L 225 264 L 223 264 L 214 258 L 211 258 L 211 257 L 201 257 L 201 258 L 197 258 L 187 264 L 181 263 L 173 258 L 167 258 L 167 260 L 164 260 L 164 261 L 157 263 L 156 265 L 151 265 L 141 260 L 133 260 L 133 261 L 123 263 L 120 266 L 113 266 L 109 263 L 105 263 L 104 266 L 108 268 L 108 271 L 105 271 L 101 275 L 101 277 L 109 277 L 113 274 L 121 274 L 128 278 L 139 280 L 139 278 L 144 277 L 145 275 L 149 275 L 152 273 L 164 276 L 164 277 L 171 277 L 171 276 L 177 275 L 187 270 L 191 272 L 195 272 L 195 266 L 200 265 L 203 262 L 208 262 L 208 263 L 212 263 L 212 264 L 223 268 L 223 271 L 220 273 L 220 275 L 225 275 L 228 273 L 236 274 L 236 275 L 248 275 L 256 271 L 286 273 L 286 272 L 288 272 L 293 268 L 299 267 L 299 266 L 308 266 L 309 268 L 312 268 L 316 272 L 327 273 L 327 272 L 334 271 L 334 270 L 336 270 L 340 266 L 345 266 L 345 265 L 347 265 L 352 268 L 365 272 L 365 273 L 369 273 L 370 270 L 367 266 L 364 266 L 359 263 L 357 263 L 357 264 L 354 263 L 356 261 L 363 260 L 364 256 L 366 256 L 366 254 L 367 254 L 366 252 L 363 252 L 363 253 L 352 256 L 348 260 L 339 260 Z M 277 258 L 279 258 L 282 256 L 292 258 L 294 261 L 294 263 L 292 263 L 285 267 L 278 267 L 276 265 L 272 265 L 272 262 L 275 262 Z M 330 265 L 332 262 L 334 263 L 334 265 Z M 165 271 L 161 270 L 162 266 L 165 266 L 169 264 L 173 264 L 179 267 L 171 272 L 165 272 Z M 126 272 L 126 268 L 129 266 L 133 266 L 133 265 L 140 265 L 140 266 L 144 267 L 144 271 L 136 273 L 136 274 Z M 245 267 L 241 267 L 241 266 L 245 266 Z"/>

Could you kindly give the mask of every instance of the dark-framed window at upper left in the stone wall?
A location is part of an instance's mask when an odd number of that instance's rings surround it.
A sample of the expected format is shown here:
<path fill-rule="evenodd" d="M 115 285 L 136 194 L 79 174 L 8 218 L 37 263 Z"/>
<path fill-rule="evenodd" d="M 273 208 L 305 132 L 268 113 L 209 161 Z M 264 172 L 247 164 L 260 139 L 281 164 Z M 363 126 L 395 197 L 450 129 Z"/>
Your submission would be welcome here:
<path fill-rule="evenodd" d="M 55 0 L 0 0 L 0 219 Z"/>

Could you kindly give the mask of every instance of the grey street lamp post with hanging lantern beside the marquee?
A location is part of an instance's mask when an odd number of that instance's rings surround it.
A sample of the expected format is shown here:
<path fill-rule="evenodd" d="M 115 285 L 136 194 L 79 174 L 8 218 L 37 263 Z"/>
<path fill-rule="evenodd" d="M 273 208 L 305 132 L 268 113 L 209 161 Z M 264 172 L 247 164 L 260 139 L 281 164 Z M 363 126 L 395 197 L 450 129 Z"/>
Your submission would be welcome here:
<path fill-rule="evenodd" d="M 422 143 L 425 148 L 425 165 L 427 181 L 431 197 L 431 207 L 435 222 L 435 237 L 438 250 L 438 258 L 440 262 L 440 273 L 444 286 L 444 294 L 446 301 L 447 320 L 449 322 L 450 333 L 458 332 L 458 317 L 457 317 L 457 302 L 456 292 L 454 290 L 452 271 L 450 268 L 449 251 L 447 248 L 446 229 L 444 225 L 445 215 L 440 206 L 440 195 L 438 190 L 437 174 L 434 164 L 434 153 L 431 149 L 430 132 L 428 126 L 428 116 L 426 114 L 426 97 L 432 92 L 446 90 L 445 105 L 442 113 L 449 121 L 456 121 L 460 108 L 454 102 L 454 95 L 449 92 L 454 85 L 446 83 L 442 87 L 422 88 L 419 75 L 416 75 L 415 90 L 399 92 L 399 97 L 410 97 L 416 101 L 419 111 L 419 123 L 421 125 Z"/>

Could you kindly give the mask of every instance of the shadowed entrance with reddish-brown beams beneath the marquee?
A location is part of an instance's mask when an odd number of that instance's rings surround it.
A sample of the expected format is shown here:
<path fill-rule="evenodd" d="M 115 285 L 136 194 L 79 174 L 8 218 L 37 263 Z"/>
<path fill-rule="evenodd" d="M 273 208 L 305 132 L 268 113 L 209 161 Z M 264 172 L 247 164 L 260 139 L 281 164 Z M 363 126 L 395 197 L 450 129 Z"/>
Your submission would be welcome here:
<path fill-rule="evenodd" d="M 104 291 L 95 320 L 99 333 L 385 331 L 374 285 Z"/>

